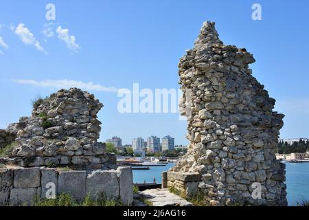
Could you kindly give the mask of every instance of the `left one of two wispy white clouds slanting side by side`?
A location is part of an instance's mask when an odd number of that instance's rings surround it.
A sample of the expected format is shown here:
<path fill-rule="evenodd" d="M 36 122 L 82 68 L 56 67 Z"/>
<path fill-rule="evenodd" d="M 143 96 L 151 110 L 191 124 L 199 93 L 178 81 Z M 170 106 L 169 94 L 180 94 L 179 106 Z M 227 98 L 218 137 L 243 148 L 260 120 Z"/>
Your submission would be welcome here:
<path fill-rule="evenodd" d="M 32 32 L 30 32 L 30 30 L 25 27 L 25 24 L 20 23 L 16 28 L 11 25 L 11 30 L 13 30 L 14 33 L 20 37 L 23 43 L 26 45 L 34 45 L 38 51 L 47 54 L 47 52 L 45 52 L 44 48 L 41 46 L 40 42 L 36 40 Z"/>

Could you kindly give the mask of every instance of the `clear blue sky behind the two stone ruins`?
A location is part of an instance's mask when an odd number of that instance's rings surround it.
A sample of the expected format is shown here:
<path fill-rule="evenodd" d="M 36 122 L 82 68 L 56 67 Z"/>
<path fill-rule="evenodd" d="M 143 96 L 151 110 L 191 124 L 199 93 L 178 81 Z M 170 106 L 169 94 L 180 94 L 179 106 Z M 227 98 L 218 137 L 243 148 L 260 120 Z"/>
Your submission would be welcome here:
<path fill-rule="evenodd" d="M 52 37 L 43 32 L 47 3 L 56 5 Z M 262 21 L 251 19 L 253 3 L 262 5 Z M 171 135 L 187 144 L 179 115 L 119 113 L 120 98 L 109 87 L 178 89 L 179 58 L 211 20 L 225 44 L 255 56 L 253 76 L 286 115 L 281 136 L 309 137 L 308 10 L 307 0 L 0 0 L 0 127 L 30 115 L 31 100 L 57 91 L 55 82 L 73 80 L 104 102 L 102 140 Z"/>

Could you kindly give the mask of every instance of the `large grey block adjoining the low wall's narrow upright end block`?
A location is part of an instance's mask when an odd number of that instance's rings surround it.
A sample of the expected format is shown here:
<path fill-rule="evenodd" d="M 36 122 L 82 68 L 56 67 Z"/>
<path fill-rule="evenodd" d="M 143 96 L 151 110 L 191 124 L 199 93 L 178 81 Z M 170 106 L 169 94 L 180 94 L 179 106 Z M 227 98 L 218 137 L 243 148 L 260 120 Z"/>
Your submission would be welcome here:
<path fill-rule="evenodd" d="M 116 170 L 93 171 L 86 180 L 86 192 L 93 199 L 98 199 L 102 193 L 108 199 L 118 199 L 119 184 Z"/>

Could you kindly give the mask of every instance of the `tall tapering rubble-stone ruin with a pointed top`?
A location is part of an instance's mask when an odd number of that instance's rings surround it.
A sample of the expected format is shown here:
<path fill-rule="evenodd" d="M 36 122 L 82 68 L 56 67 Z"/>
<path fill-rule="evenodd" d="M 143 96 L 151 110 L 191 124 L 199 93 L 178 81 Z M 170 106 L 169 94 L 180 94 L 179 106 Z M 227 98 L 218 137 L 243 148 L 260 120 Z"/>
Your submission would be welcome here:
<path fill-rule="evenodd" d="M 168 172 L 168 187 L 200 190 L 213 206 L 286 206 L 285 166 L 273 152 L 284 115 L 252 76 L 252 54 L 223 45 L 214 25 L 203 24 L 179 63 L 190 147 Z M 251 196 L 256 183 L 260 199 Z"/>

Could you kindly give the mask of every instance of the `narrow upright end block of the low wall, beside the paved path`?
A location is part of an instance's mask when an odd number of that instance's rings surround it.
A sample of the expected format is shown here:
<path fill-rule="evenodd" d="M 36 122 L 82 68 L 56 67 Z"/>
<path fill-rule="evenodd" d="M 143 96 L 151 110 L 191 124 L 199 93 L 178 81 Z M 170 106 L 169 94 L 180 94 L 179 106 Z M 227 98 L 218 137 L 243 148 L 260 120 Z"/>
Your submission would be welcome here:
<path fill-rule="evenodd" d="M 130 206 L 133 202 L 133 174 L 130 167 L 119 167 L 120 199 L 124 206 Z"/>

